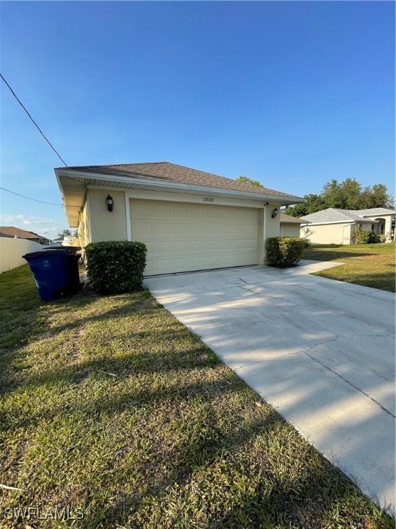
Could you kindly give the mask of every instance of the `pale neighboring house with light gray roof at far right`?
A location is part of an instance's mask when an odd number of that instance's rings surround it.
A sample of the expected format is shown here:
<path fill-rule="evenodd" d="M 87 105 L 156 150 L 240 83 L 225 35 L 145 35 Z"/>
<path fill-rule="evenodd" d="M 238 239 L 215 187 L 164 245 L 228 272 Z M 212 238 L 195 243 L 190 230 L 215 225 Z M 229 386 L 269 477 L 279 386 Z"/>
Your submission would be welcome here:
<path fill-rule="evenodd" d="M 395 227 L 392 225 L 396 211 L 384 207 L 373 209 L 334 209 L 332 207 L 301 217 L 305 221 L 301 229 L 309 225 L 314 234 L 311 242 L 320 244 L 351 245 L 356 227 L 384 235 L 392 242 Z"/>

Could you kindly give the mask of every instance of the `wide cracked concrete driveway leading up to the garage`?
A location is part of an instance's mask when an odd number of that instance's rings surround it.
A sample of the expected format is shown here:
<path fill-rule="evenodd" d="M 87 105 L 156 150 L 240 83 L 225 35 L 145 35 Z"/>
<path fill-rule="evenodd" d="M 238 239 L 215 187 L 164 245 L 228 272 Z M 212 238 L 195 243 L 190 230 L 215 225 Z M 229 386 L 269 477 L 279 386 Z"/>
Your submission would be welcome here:
<path fill-rule="evenodd" d="M 333 264 L 146 278 L 361 490 L 395 513 L 395 295 L 309 276 Z"/>

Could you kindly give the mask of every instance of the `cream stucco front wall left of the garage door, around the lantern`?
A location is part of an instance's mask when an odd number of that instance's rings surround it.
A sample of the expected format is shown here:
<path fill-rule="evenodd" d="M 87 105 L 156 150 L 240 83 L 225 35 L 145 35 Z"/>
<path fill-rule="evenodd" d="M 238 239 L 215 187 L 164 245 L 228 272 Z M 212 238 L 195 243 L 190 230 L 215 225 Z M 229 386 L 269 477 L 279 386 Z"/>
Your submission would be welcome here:
<path fill-rule="evenodd" d="M 114 200 L 113 211 L 107 210 L 106 197 L 108 194 L 111 194 Z M 124 191 L 88 189 L 85 211 L 89 215 L 87 242 L 127 239 Z M 85 222 L 86 226 L 87 224 Z"/>

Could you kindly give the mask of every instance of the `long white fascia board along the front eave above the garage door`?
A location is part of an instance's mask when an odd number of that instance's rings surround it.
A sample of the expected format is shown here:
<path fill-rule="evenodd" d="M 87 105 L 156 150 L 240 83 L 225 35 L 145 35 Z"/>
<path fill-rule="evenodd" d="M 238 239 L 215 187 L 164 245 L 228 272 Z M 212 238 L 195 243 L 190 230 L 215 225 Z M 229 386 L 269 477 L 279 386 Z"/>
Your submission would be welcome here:
<path fill-rule="evenodd" d="M 146 185 L 153 187 L 162 187 L 164 191 L 166 189 L 181 189 L 183 191 L 197 191 L 203 194 L 225 194 L 227 196 L 237 196 L 250 198 L 251 200 L 259 200 L 261 202 L 270 201 L 273 204 L 296 204 L 298 202 L 305 202 L 303 198 L 300 200 L 294 200 L 294 197 L 286 197 L 280 195 L 266 195 L 266 194 L 256 194 L 249 193 L 248 191 L 234 191 L 233 189 L 221 189 L 221 187 L 208 187 L 203 185 L 190 185 L 190 184 L 180 184 L 176 182 L 159 182 L 158 180 L 146 180 L 142 178 L 131 178 L 130 176 L 114 176 L 111 174 L 100 174 L 100 173 L 85 173 L 80 171 L 72 171 L 67 169 L 55 169 L 56 174 L 60 176 L 73 177 L 77 176 L 79 178 L 85 178 L 89 180 L 107 180 L 109 182 L 121 182 L 126 184 L 137 184 L 137 185 Z"/>

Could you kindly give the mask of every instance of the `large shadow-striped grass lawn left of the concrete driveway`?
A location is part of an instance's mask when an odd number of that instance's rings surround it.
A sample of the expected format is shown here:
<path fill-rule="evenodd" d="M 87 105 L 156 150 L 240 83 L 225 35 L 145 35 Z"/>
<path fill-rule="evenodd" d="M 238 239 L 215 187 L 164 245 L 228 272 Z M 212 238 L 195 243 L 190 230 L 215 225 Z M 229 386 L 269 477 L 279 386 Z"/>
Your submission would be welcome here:
<path fill-rule="evenodd" d="M 1 528 L 394 527 L 147 291 L 0 300 Z"/>

